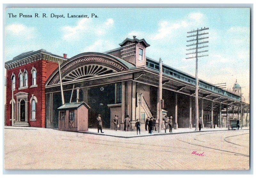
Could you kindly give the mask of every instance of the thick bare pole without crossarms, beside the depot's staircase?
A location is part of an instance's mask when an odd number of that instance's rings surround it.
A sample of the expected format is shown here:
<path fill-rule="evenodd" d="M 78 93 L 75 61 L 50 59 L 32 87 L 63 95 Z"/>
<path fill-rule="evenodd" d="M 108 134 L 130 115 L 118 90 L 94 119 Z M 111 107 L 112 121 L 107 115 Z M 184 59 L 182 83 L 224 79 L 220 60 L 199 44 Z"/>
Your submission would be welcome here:
<path fill-rule="evenodd" d="M 162 130 L 162 105 L 161 105 L 161 100 L 162 100 L 162 75 L 163 75 L 163 70 L 162 70 L 162 59 L 159 58 L 159 85 L 158 85 L 158 114 L 159 114 L 159 120 L 158 120 L 158 133 L 161 132 Z"/>

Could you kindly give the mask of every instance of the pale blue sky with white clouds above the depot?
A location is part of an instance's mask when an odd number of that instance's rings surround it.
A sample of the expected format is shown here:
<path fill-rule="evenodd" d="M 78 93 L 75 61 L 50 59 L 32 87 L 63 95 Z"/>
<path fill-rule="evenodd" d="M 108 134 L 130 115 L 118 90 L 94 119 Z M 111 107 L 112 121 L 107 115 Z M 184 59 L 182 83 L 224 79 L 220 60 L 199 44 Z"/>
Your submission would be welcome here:
<path fill-rule="evenodd" d="M 68 18 L 68 13 L 89 18 Z M 92 13 L 97 18 L 91 18 Z M 195 59 L 185 59 L 190 48 L 187 32 L 208 27 L 209 56 L 199 58 L 198 77 L 212 84 L 227 83 L 227 88 L 237 79 L 244 96 L 249 95 L 249 8 L 7 8 L 5 15 L 5 61 L 39 49 L 68 57 L 104 52 L 135 35 L 150 44 L 146 56 L 161 57 L 164 64 L 193 76 Z"/>

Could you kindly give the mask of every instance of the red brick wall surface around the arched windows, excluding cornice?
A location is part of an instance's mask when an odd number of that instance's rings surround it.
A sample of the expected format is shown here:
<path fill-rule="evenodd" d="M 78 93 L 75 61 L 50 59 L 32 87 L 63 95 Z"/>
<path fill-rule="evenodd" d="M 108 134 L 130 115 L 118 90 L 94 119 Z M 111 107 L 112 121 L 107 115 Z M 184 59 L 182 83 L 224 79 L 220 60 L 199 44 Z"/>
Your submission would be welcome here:
<path fill-rule="evenodd" d="M 37 76 L 36 76 L 36 84 L 37 87 L 32 87 L 32 74 L 31 70 L 32 67 L 36 68 Z M 16 83 L 15 83 L 15 91 L 13 94 L 15 95 L 18 92 L 25 92 L 28 93 L 28 123 L 31 127 L 45 127 L 45 90 L 44 85 L 46 80 L 52 74 L 52 72 L 57 69 L 58 63 L 53 63 L 45 60 L 39 60 L 33 63 L 28 63 L 26 65 L 16 67 L 6 71 L 6 125 L 11 126 L 12 121 L 11 119 L 11 105 L 10 101 L 12 100 L 12 85 L 11 85 L 11 76 L 12 73 L 16 76 Z M 18 89 L 19 88 L 19 72 L 20 70 L 24 71 L 26 69 L 28 71 L 28 88 L 26 89 Z M 36 103 L 36 121 L 30 121 L 31 119 L 31 103 L 30 98 L 34 94 L 37 99 Z M 16 96 L 14 96 L 15 102 L 17 102 Z M 17 104 L 15 104 L 15 116 L 17 118 Z M 19 114 L 19 113 L 18 113 Z"/>

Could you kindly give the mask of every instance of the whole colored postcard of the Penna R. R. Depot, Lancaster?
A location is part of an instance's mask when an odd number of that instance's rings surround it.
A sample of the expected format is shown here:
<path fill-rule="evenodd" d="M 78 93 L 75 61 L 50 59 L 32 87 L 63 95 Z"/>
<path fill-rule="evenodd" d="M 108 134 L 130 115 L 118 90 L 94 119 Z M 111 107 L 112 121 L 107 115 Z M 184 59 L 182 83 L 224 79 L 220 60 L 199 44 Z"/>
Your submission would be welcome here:
<path fill-rule="evenodd" d="M 4 168 L 249 170 L 250 8 L 6 8 Z"/>

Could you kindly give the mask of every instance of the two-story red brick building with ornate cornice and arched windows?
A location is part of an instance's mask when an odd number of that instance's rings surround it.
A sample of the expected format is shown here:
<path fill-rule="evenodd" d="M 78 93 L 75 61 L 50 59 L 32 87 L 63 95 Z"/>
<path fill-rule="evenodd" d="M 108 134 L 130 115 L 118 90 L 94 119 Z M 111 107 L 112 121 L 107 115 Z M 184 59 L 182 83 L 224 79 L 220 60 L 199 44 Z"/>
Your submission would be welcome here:
<path fill-rule="evenodd" d="M 6 121 L 12 125 L 12 85 L 14 126 L 45 127 L 45 82 L 58 61 L 67 60 L 44 49 L 29 51 L 5 63 L 6 68 Z"/>

